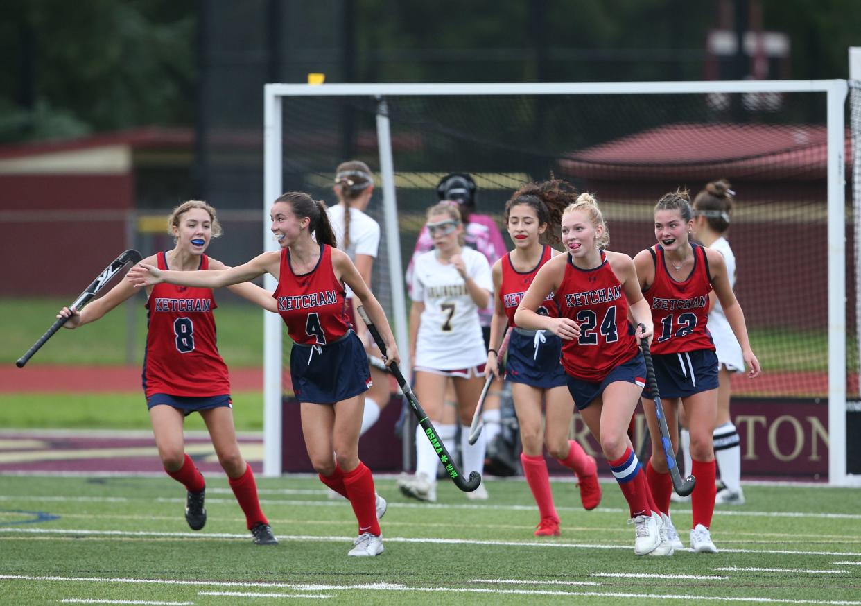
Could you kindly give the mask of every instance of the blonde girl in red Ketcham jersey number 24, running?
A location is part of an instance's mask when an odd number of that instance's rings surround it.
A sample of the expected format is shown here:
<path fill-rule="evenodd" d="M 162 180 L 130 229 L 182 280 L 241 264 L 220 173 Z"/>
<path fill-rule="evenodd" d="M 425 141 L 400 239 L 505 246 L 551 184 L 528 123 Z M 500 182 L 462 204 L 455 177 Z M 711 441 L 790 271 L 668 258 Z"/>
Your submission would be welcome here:
<path fill-rule="evenodd" d="M 634 262 L 604 250 L 610 234 L 592 195 L 581 194 L 568 206 L 561 224 L 567 255 L 553 257 L 538 270 L 514 321 L 562 339 L 568 390 L 628 500 L 634 553 L 652 553 L 662 543 L 663 524 L 628 437 L 646 376 L 638 343 L 652 335 L 652 318 Z M 559 310 L 556 318 L 538 312 L 551 293 Z M 638 331 L 628 321 L 629 310 L 643 326 Z"/>

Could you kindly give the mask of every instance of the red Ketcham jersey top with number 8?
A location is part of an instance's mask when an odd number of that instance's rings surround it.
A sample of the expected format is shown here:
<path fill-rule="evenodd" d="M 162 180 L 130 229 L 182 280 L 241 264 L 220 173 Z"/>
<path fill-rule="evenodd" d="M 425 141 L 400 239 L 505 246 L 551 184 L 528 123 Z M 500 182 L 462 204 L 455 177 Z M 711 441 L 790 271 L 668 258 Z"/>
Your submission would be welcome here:
<path fill-rule="evenodd" d="M 164 252 L 158 253 L 158 269 L 170 269 Z M 209 269 L 206 255 L 198 269 Z M 230 393 L 227 365 L 215 343 L 216 307 L 212 288 L 164 282 L 152 287 L 146 301 L 147 398 L 155 393 L 199 398 Z"/>

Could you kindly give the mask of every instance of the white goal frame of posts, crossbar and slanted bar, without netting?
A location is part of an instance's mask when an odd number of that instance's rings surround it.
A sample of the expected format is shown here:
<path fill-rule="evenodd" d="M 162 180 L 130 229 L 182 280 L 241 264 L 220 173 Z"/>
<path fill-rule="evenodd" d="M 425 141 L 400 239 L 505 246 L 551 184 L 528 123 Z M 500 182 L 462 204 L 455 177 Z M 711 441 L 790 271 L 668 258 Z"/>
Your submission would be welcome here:
<path fill-rule="evenodd" d="M 827 95 L 827 343 L 828 343 L 828 479 L 832 485 L 861 485 L 861 478 L 846 473 L 846 236 L 845 222 L 845 108 L 846 80 L 788 80 L 733 82 L 625 82 L 625 83 L 391 83 L 391 84 L 284 84 L 264 87 L 263 244 L 277 250 L 269 232 L 269 207 L 282 192 L 284 161 L 282 112 L 289 97 L 364 96 L 385 101 L 387 96 L 516 96 L 516 95 L 653 95 L 684 93 L 825 93 Z M 289 108 L 287 108 L 289 111 Z M 388 139 L 388 119 L 377 115 L 377 135 L 383 178 L 384 234 L 392 280 L 393 322 L 401 356 L 409 351 L 406 330 L 404 270 L 400 257 L 394 168 Z M 391 233 L 390 233 L 391 232 Z M 276 281 L 266 276 L 265 287 Z M 263 313 L 264 331 L 264 462 L 263 474 L 282 473 L 282 320 Z M 404 368 L 410 368 L 404 360 Z M 839 439 L 834 439 L 840 436 Z"/>

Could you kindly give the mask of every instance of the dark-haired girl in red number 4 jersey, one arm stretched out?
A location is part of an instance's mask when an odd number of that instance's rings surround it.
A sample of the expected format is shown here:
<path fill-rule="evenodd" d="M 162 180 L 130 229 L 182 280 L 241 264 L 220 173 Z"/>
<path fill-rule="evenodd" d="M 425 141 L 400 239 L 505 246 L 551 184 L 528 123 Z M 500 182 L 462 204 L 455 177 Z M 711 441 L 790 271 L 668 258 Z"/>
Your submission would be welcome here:
<path fill-rule="evenodd" d="M 350 257 L 335 248 L 325 204 L 289 192 L 272 205 L 271 219 L 280 251 L 264 252 L 234 268 L 194 273 L 141 263 L 129 272 L 130 280 L 137 286 L 168 282 L 217 288 L 266 273 L 278 279 L 272 296 L 294 341 L 290 374 L 308 456 L 319 479 L 353 506 L 359 536 L 348 555 L 375 556 L 383 552 L 377 518 L 385 512 L 385 501 L 375 496 L 371 471 L 359 460 L 362 405 L 370 376 L 368 356 L 350 328 L 344 285 L 362 300 L 379 328 L 390 362 L 399 361 L 398 348 L 380 303 Z"/>

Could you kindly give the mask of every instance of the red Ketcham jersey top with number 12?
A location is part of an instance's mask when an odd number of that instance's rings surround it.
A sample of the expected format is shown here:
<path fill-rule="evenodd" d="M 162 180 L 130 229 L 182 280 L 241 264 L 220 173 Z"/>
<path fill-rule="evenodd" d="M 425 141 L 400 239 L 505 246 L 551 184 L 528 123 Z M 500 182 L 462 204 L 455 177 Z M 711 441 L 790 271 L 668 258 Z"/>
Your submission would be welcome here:
<path fill-rule="evenodd" d="M 664 249 L 655 244 L 649 251 L 654 261 L 654 282 L 644 293 L 652 309 L 653 354 L 681 354 L 697 349 L 715 349 L 706 320 L 709 318 L 709 260 L 705 249 L 691 244 L 694 268 L 684 281 L 672 278 L 664 263 Z"/>

